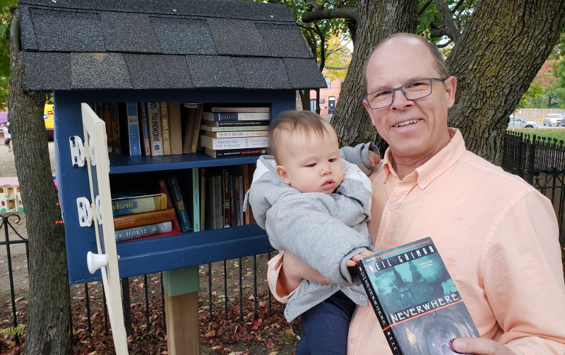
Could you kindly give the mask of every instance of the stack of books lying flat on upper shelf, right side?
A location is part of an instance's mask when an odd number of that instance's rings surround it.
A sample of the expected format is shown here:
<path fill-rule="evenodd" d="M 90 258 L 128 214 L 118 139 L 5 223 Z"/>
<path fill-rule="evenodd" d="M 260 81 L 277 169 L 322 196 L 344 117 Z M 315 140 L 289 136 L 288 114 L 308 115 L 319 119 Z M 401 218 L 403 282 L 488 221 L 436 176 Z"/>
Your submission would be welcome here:
<path fill-rule="evenodd" d="M 202 113 L 200 144 L 210 157 L 266 154 L 268 107 L 211 107 Z"/>

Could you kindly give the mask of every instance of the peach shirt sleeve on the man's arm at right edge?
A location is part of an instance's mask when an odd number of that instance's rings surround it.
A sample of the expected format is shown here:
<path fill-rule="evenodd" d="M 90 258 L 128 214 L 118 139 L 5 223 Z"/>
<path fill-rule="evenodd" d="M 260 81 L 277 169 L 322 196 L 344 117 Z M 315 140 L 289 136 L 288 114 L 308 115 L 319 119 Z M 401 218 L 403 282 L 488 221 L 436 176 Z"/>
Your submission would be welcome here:
<path fill-rule="evenodd" d="M 565 354 L 565 283 L 552 204 L 532 192 L 504 216 L 485 255 L 484 291 L 501 328 L 493 339 L 519 354 Z"/>

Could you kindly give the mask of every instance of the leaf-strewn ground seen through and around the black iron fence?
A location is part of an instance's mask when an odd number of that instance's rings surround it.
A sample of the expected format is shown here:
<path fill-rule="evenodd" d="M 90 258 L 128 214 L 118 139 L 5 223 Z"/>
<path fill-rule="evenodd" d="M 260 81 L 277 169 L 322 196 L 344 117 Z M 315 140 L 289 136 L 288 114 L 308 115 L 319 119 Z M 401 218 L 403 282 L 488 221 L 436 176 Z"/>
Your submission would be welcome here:
<path fill-rule="evenodd" d="M 54 143 L 49 142 L 49 156 L 51 158 L 52 172 L 54 173 Z M 0 146 L 0 177 L 16 176 L 13 152 Z M 25 206 L 24 206 L 25 208 Z M 18 220 L 19 217 L 19 220 Z M 17 233 L 27 238 L 25 229 L 25 213 L 10 217 L 12 228 L 8 228 L 10 240 L 20 239 Z M 0 241 L 6 239 L 6 229 L 0 228 Z M 243 303 L 242 315 L 239 319 L 239 259 L 227 260 L 224 272 L 223 263 L 213 263 L 211 275 L 208 265 L 200 266 L 200 320 L 201 320 L 201 354 L 271 354 L 292 355 L 295 352 L 297 335 L 302 334 L 302 329 L 297 321 L 289 325 L 283 317 L 283 308 L 270 298 L 272 312 L 268 311 L 268 287 L 266 285 L 266 261 L 268 255 L 258 255 L 256 263 L 256 303 L 254 302 L 254 258 L 247 257 L 241 260 Z M 24 244 L 11 246 L 11 270 L 15 289 L 16 311 L 18 323 L 25 324 L 27 300 L 29 294 L 28 265 Z M 13 325 L 11 311 L 10 282 L 8 257 L 6 246 L 0 246 L 0 330 L 6 330 Z M 224 283 L 224 273 L 227 282 Z M 209 312 L 209 277 L 211 276 L 212 291 L 212 320 Z M 130 354 L 167 354 L 164 325 L 162 324 L 162 311 L 160 302 L 160 274 L 148 275 L 145 282 L 143 275 L 129 277 L 133 335 L 129 342 Z M 227 288 L 225 288 L 227 286 Z M 150 300 L 150 329 L 147 332 L 145 318 L 145 290 Z M 227 291 L 226 291 L 227 290 Z M 227 294 L 227 317 L 224 295 Z M 88 305 L 90 306 L 91 325 L 88 332 L 88 318 L 85 317 L 85 285 L 71 286 L 71 308 L 73 315 L 73 354 L 114 354 L 113 345 L 105 337 L 105 328 L 102 315 L 102 287 L 101 282 L 88 284 Z M 255 307 L 257 309 L 255 316 Z M 1 341 L 1 354 L 20 354 L 18 345 L 13 338 Z M 9 349 L 6 349 L 6 346 Z M 21 350 L 19 350 L 21 351 Z M 163 352 L 165 351 L 165 352 Z"/>

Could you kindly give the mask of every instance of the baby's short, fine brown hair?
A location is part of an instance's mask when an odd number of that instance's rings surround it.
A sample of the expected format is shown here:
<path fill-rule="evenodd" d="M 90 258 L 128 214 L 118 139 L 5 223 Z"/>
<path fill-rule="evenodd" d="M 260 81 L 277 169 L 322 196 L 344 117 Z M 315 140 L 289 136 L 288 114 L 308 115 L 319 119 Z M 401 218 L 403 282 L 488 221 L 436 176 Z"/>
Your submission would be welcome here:
<path fill-rule="evenodd" d="M 316 112 L 297 110 L 282 112 L 269 125 L 269 154 L 273 155 L 277 164 L 280 163 L 279 149 L 283 143 L 281 133 L 314 132 L 323 137 L 324 133 L 329 133 L 328 126 L 330 125 Z"/>

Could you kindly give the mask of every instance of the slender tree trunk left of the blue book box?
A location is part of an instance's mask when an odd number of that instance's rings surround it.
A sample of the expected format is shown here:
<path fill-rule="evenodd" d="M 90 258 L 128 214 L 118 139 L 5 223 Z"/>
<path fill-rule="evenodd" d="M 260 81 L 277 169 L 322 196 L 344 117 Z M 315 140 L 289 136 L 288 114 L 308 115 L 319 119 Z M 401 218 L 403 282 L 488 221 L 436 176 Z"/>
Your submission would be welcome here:
<path fill-rule="evenodd" d="M 10 41 L 9 112 L 30 246 L 30 303 L 23 354 L 69 353 L 71 309 L 64 226 L 43 122 L 45 95 L 23 88 L 19 11 Z"/>

